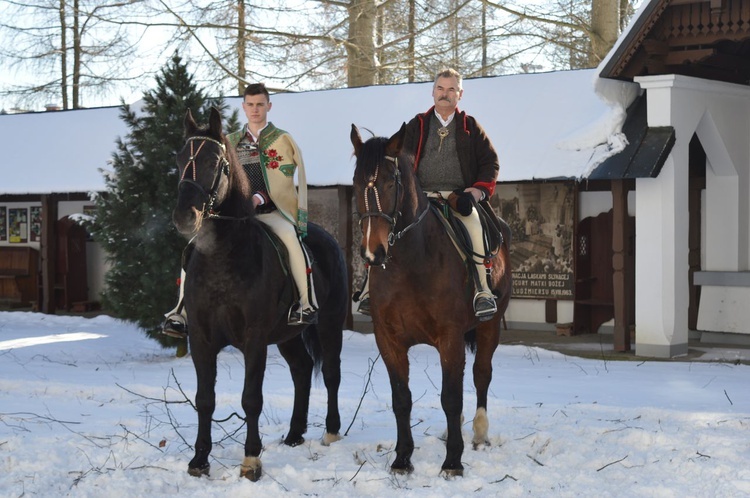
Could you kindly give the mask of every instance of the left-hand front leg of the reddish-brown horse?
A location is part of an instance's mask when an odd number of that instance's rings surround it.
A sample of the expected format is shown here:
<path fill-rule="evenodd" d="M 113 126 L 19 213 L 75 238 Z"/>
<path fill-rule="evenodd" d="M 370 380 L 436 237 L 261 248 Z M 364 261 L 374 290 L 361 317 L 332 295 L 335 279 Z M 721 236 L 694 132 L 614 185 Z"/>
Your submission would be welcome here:
<path fill-rule="evenodd" d="M 384 337 L 388 333 L 375 330 L 378 349 L 388 369 L 391 381 L 393 414 L 396 416 L 396 458 L 391 464 L 391 472 L 408 474 L 414 471 L 411 455 L 414 453 L 414 439 L 411 433 L 411 390 L 409 389 L 408 348 Z"/>

